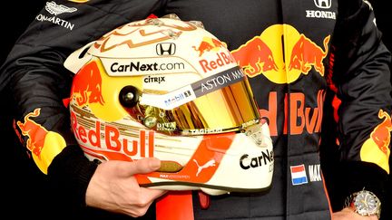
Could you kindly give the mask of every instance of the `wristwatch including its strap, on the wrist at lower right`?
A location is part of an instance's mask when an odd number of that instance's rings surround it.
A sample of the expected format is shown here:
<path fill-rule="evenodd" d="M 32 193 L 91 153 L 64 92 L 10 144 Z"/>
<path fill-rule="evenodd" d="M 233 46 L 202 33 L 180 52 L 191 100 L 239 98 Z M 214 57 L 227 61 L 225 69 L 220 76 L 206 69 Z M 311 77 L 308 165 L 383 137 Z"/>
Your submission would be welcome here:
<path fill-rule="evenodd" d="M 374 193 L 365 189 L 348 196 L 346 207 L 353 208 L 356 213 L 362 216 L 377 215 L 378 219 L 380 218 L 380 200 Z"/>

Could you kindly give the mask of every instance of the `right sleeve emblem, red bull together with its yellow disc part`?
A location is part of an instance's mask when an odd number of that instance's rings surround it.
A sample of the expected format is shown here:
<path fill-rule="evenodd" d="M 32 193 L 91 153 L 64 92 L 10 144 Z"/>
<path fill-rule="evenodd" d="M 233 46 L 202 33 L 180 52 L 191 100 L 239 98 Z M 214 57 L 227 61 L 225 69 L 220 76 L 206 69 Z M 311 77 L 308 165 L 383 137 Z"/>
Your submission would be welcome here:
<path fill-rule="evenodd" d="M 390 115 L 384 111 L 378 111 L 378 119 L 383 120 L 370 133 L 369 139 L 363 144 L 360 157 L 363 161 L 377 164 L 389 173 L 388 158 L 390 155 L 390 139 L 392 123 Z"/>

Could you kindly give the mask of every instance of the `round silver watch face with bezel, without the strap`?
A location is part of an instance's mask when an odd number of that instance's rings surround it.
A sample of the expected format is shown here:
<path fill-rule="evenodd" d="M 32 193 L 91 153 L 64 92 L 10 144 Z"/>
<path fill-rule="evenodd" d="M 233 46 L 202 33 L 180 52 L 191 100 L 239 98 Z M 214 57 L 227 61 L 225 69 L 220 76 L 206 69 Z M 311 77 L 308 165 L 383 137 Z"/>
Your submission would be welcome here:
<path fill-rule="evenodd" d="M 354 205 L 359 215 L 376 214 L 379 206 L 376 197 L 367 191 L 362 191 L 355 197 Z"/>

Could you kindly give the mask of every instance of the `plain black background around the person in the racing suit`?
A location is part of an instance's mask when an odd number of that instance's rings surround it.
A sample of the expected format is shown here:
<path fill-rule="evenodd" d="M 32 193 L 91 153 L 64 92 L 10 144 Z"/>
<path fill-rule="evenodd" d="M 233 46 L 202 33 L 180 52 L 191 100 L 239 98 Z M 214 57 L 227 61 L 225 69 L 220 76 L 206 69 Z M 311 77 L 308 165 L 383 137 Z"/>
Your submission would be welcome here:
<path fill-rule="evenodd" d="M 108 0 L 109 1 L 109 0 Z M 370 0 L 377 16 L 377 26 L 384 33 L 384 43 L 392 50 L 392 35 L 387 32 L 392 26 L 389 6 L 390 0 Z M 22 34 L 30 22 L 44 6 L 44 0 L 33 1 L 6 1 L 1 16 L 2 38 L 0 63 L 5 61 L 6 55 L 20 34 Z M 5 15 L 9 10 L 12 16 Z M 26 157 L 25 148 L 18 144 L 18 140 L 12 129 L 12 110 L 7 108 L 9 97 L 0 94 L 2 105 L 0 108 L 0 149 L 2 150 L 2 215 L 16 217 L 39 217 L 41 219 L 59 218 L 62 214 L 56 212 L 56 206 L 61 204 L 61 197 L 56 197 L 47 190 L 47 183 L 43 174 Z M 389 183 L 388 201 L 383 204 L 383 220 L 392 219 L 392 182 Z"/>

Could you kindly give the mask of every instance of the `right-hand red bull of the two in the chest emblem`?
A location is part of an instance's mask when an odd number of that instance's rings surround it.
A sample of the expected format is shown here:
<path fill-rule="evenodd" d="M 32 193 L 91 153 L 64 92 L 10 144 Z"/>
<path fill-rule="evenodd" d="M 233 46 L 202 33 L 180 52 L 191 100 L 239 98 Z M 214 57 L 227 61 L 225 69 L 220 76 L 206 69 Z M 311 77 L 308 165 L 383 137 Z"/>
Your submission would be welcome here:
<path fill-rule="evenodd" d="M 328 35 L 324 39 L 325 51 L 323 51 L 304 34 L 300 34 L 299 41 L 294 45 L 291 51 L 289 71 L 295 69 L 304 74 L 308 74 L 313 66 L 321 76 L 324 76 L 324 64 L 322 61 L 328 53 L 329 38 L 330 36 Z"/>

